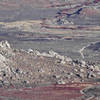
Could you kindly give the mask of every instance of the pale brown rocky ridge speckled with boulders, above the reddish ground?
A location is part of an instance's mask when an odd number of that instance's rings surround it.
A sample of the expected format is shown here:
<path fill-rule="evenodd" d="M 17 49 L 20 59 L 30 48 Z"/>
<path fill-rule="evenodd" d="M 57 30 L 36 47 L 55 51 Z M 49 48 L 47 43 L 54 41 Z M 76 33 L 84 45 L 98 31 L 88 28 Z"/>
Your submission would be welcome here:
<path fill-rule="evenodd" d="M 69 82 L 98 81 L 99 65 L 72 60 L 54 51 L 40 53 L 12 49 L 7 41 L 0 42 L 1 86 L 40 86 Z"/>

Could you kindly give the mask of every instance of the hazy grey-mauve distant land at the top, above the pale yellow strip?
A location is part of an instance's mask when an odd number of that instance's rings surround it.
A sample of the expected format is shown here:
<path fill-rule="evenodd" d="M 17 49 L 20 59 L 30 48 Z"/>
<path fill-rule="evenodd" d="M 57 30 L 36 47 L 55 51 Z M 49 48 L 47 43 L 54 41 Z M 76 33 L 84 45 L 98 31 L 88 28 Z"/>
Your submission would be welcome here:
<path fill-rule="evenodd" d="M 56 16 L 58 10 L 76 12 L 80 7 L 97 8 L 99 2 L 100 0 L 1 0 L 0 21 L 51 18 Z"/>

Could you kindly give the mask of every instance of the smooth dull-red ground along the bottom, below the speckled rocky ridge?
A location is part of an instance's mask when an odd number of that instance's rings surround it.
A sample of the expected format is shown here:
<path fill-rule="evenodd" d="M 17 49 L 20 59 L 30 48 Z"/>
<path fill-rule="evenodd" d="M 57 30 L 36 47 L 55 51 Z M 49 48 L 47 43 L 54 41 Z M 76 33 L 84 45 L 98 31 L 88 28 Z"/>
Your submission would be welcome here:
<path fill-rule="evenodd" d="M 93 91 L 91 91 L 91 95 L 89 96 L 87 96 L 87 92 L 85 96 L 83 93 L 81 93 L 82 89 L 91 86 L 91 90 L 95 85 L 97 84 L 71 83 L 65 85 L 50 85 L 37 88 L 0 88 L 0 100 L 97 100 L 97 96 L 95 97 L 93 95 Z M 97 90 L 97 93 L 98 92 L 99 91 Z M 98 100 L 100 100 L 99 97 Z"/>

